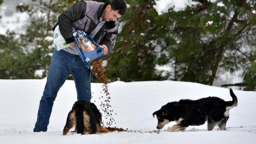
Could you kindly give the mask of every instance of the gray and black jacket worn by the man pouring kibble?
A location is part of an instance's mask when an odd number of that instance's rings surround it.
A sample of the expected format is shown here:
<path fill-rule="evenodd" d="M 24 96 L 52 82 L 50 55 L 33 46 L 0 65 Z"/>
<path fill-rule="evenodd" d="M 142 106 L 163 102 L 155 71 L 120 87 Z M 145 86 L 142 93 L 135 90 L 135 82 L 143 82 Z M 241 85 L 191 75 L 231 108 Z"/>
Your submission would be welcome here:
<path fill-rule="evenodd" d="M 109 3 L 110 2 L 82 1 L 74 4 L 71 8 L 59 15 L 58 23 L 52 30 L 59 25 L 60 33 L 67 44 L 74 42 L 71 27 L 90 34 L 99 23 L 103 10 Z M 117 21 L 106 21 L 96 33 L 94 40 L 100 45 L 105 44 L 108 46 L 109 54 L 115 44 L 117 33 Z"/>

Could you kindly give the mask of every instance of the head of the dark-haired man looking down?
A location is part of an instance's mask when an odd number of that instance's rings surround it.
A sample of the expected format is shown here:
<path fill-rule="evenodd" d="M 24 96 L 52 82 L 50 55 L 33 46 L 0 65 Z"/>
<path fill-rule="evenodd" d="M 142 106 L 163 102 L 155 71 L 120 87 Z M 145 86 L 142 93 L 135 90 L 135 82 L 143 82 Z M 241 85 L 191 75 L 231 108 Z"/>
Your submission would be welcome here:
<path fill-rule="evenodd" d="M 114 21 L 125 14 L 126 8 L 124 0 L 112 0 L 104 9 L 104 19 Z"/>

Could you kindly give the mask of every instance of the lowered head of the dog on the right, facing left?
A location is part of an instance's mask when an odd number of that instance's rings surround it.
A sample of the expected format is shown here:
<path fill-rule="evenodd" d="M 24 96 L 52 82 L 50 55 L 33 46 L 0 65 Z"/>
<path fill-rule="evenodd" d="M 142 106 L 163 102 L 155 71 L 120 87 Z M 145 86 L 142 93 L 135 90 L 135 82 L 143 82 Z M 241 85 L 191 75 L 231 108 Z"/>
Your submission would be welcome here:
<path fill-rule="evenodd" d="M 166 124 L 170 123 L 169 121 L 169 111 L 168 110 L 165 110 L 165 109 L 160 109 L 158 111 L 155 111 L 153 113 L 153 117 L 157 117 L 157 120 L 158 120 L 158 123 L 157 123 L 157 126 L 156 128 L 157 129 L 161 129 L 163 128 L 163 126 L 165 126 Z"/>

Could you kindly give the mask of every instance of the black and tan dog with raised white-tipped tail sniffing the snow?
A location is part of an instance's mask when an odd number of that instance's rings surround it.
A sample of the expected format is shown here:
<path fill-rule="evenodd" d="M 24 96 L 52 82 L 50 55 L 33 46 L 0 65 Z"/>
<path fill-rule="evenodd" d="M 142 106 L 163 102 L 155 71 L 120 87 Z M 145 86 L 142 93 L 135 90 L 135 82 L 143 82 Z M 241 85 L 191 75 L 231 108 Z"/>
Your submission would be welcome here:
<path fill-rule="evenodd" d="M 208 97 L 198 100 L 182 99 L 179 102 L 169 102 L 162 106 L 160 110 L 153 113 L 157 116 L 157 129 L 163 128 L 171 121 L 176 121 L 168 131 L 176 129 L 184 131 L 188 126 L 203 125 L 208 122 L 208 130 L 218 126 L 221 130 L 226 130 L 226 123 L 229 118 L 229 110 L 237 106 L 237 97 L 230 89 L 232 101 L 224 101 L 217 97 Z"/>

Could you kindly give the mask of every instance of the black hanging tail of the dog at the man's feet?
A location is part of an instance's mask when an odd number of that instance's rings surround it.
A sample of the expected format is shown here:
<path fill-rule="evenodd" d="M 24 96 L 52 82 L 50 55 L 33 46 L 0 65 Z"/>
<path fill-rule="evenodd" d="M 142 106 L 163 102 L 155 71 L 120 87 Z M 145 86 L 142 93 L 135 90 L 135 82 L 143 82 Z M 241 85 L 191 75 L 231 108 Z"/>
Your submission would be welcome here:
<path fill-rule="evenodd" d="M 76 105 L 75 121 L 76 121 L 77 133 L 84 134 L 84 108 L 82 104 Z"/>

